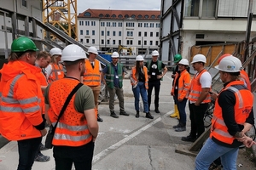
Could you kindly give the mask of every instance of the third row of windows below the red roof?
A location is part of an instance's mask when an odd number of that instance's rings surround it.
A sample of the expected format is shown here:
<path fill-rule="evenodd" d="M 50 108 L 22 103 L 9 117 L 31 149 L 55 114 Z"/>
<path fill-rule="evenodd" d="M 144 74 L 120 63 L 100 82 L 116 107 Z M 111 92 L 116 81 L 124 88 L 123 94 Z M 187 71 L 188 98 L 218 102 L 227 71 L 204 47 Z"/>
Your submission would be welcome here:
<path fill-rule="evenodd" d="M 84 42 L 84 39 L 81 38 L 80 39 L 80 42 Z M 85 42 L 86 43 L 90 43 L 90 39 L 85 39 Z M 95 39 L 91 39 L 91 43 L 92 44 L 95 44 Z M 110 44 L 110 40 L 107 40 L 106 43 L 109 45 Z M 104 40 L 102 39 L 102 42 L 101 42 L 102 45 L 105 44 Z M 122 44 L 122 41 L 119 40 L 119 44 Z M 112 45 L 116 45 L 116 42 L 115 40 L 112 40 Z M 133 40 L 126 40 L 126 45 L 133 45 Z M 142 41 L 141 40 L 138 40 L 137 41 L 137 45 L 142 45 Z M 143 45 L 154 45 L 153 44 L 153 41 L 149 41 L 149 44 L 148 44 L 148 41 L 143 41 Z M 155 41 L 155 45 L 158 46 L 159 45 L 159 41 Z"/>

